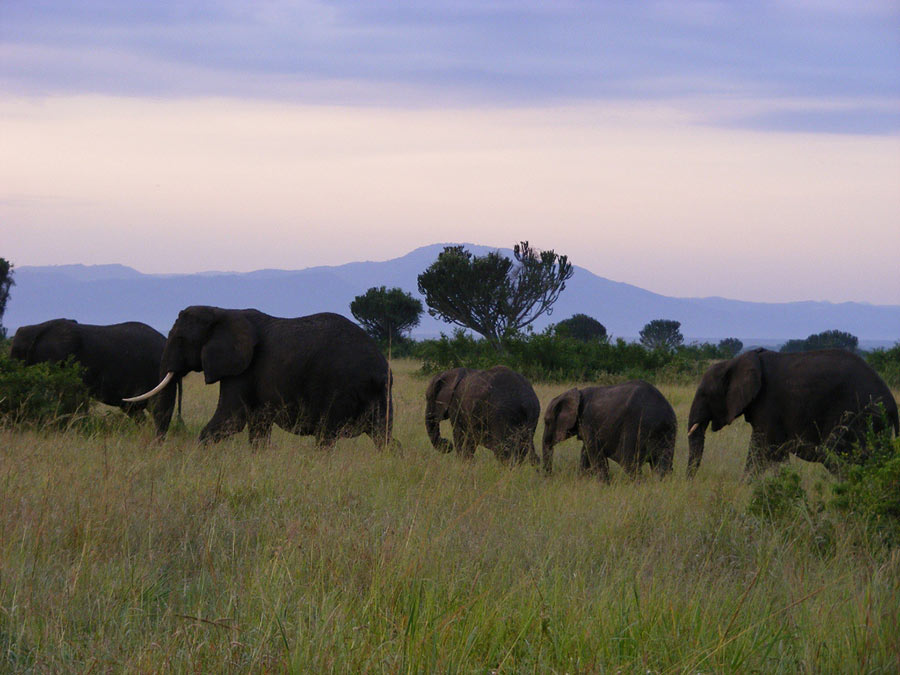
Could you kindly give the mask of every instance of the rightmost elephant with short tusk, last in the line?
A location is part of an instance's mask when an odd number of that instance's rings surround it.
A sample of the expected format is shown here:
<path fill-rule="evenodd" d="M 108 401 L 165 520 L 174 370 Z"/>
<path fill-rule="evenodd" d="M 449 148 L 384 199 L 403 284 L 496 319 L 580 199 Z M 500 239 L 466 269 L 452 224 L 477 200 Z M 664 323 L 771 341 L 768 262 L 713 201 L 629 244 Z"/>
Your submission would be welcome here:
<path fill-rule="evenodd" d="M 754 349 L 711 366 L 688 416 L 688 476 L 703 457 L 706 427 L 718 431 L 740 415 L 750 423 L 746 473 L 758 473 L 789 454 L 822 462 L 864 444 L 867 419 L 885 428 L 877 405 L 900 433 L 890 389 L 859 356 L 845 349 L 780 353 Z"/>

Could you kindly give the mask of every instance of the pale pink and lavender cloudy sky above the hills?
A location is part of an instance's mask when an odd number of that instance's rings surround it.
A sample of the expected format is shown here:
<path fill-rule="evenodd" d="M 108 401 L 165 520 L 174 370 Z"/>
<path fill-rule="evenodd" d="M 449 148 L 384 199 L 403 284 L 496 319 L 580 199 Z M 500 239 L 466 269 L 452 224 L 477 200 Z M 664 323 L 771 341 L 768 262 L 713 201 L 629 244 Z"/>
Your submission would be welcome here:
<path fill-rule="evenodd" d="M 900 2 L 0 2 L 0 256 L 528 240 L 670 296 L 900 304 Z"/>

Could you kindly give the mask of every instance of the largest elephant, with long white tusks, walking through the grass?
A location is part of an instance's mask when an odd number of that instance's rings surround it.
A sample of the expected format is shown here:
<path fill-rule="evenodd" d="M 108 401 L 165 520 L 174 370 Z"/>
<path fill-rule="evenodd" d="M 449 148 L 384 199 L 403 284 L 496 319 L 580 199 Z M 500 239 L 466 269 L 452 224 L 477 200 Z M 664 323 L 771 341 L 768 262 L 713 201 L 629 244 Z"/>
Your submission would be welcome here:
<path fill-rule="evenodd" d="M 313 435 L 320 446 L 368 433 L 393 444 L 392 375 L 375 341 L 339 314 L 273 317 L 256 309 L 191 306 L 169 331 L 156 394 L 171 377 L 203 372 L 219 383 L 216 411 L 200 432 L 215 442 L 248 428 L 254 445 L 272 425 Z"/>

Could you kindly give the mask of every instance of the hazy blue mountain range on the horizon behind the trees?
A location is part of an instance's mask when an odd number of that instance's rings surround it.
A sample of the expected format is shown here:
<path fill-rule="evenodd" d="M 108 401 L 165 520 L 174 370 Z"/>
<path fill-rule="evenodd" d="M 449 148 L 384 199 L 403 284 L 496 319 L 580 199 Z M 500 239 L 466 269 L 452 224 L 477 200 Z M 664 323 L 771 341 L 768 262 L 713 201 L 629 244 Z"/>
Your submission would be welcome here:
<path fill-rule="evenodd" d="M 255 307 L 275 316 L 321 311 L 350 316 L 350 301 L 372 286 L 399 286 L 419 297 L 416 277 L 445 245 L 424 246 L 384 262 L 247 273 L 142 274 L 123 265 L 17 267 L 4 324 L 12 334 L 21 325 L 55 317 L 98 324 L 138 320 L 167 333 L 188 305 Z M 494 250 L 466 247 L 479 254 Z M 512 255 L 511 250 L 504 253 Z M 636 337 L 652 319 L 676 319 L 688 341 L 734 336 L 746 345 L 773 345 L 829 329 L 848 331 L 865 347 L 900 340 L 897 305 L 672 298 L 581 267 L 575 268 L 553 315 L 542 317 L 535 328 L 577 312 L 595 317 L 614 336 L 625 338 Z M 451 330 L 426 314 L 413 335 L 430 337 Z"/>

